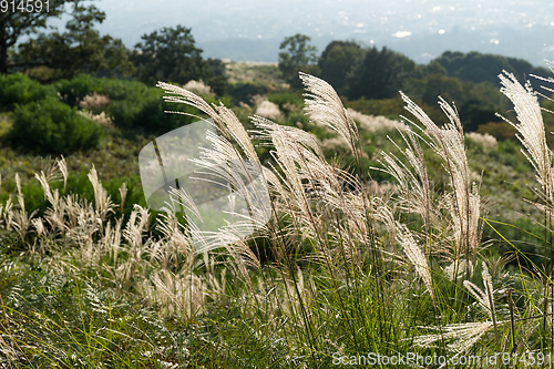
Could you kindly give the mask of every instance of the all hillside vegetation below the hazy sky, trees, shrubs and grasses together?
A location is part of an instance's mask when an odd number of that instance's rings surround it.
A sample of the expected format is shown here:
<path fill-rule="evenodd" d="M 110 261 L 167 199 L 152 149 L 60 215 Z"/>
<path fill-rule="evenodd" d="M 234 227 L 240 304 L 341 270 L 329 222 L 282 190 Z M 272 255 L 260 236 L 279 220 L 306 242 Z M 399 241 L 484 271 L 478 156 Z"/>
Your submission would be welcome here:
<path fill-rule="evenodd" d="M 73 4 L 0 65 L 2 368 L 550 365 L 554 102 L 519 82 L 543 70 L 301 34 L 224 63 L 182 25 L 131 51 Z M 211 232 L 186 186 L 150 209 L 137 162 L 206 117 Z"/>

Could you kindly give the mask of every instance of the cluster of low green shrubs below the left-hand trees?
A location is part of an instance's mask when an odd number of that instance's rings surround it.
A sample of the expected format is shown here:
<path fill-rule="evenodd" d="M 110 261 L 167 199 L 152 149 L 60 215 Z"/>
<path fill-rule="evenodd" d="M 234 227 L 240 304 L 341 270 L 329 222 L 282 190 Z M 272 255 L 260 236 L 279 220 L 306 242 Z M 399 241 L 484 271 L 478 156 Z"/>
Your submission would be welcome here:
<path fill-rule="evenodd" d="M 57 96 L 58 94 L 58 96 Z M 0 78 L 4 111 L 14 111 L 10 133 L 14 146 L 40 154 L 61 154 L 98 145 L 102 130 L 88 115 L 100 116 L 106 126 L 132 133 L 163 134 L 195 120 L 187 105 L 166 103 L 163 92 L 137 81 L 78 75 L 43 86 L 16 73 Z M 84 113 L 79 115 L 78 107 Z M 93 122 L 94 121 L 94 122 Z M 96 123 L 98 123 L 96 122 Z"/>

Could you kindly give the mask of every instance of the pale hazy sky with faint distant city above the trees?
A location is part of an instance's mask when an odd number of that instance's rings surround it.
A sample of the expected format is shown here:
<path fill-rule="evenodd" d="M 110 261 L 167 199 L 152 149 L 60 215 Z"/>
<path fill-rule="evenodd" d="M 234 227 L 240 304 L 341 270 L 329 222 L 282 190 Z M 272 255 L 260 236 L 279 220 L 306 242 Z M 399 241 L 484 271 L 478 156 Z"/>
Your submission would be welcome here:
<path fill-rule="evenodd" d="M 106 12 L 100 31 L 121 38 L 131 48 L 142 34 L 176 24 L 192 27 L 201 45 L 226 39 L 283 40 L 298 32 L 326 42 L 356 39 L 365 44 L 389 44 L 397 39 L 447 37 L 458 31 L 466 32 L 466 38 L 475 39 L 474 42 L 486 43 L 492 51 L 497 47 L 499 53 L 505 54 L 521 47 L 513 43 L 513 34 L 505 29 L 524 37 L 516 40 L 519 43 L 534 42 L 534 49 L 554 44 L 554 1 L 545 0 L 100 0 L 94 3 Z M 527 41 L 527 35 L 533 41 Z M 459 40 L 463 42 L 464 37 Z"/>

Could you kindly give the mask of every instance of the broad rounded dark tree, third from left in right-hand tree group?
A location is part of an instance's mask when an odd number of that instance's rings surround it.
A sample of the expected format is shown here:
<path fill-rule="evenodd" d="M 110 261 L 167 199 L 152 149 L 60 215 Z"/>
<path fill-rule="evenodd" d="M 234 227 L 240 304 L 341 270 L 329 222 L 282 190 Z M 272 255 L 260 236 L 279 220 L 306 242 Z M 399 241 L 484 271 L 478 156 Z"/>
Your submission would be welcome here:
<path fill-rule="evenodd" d="M 371 48 L 347 76 L 348 99 L 389 99 L 398 94 L 416 63 L 401 53 Z"/>

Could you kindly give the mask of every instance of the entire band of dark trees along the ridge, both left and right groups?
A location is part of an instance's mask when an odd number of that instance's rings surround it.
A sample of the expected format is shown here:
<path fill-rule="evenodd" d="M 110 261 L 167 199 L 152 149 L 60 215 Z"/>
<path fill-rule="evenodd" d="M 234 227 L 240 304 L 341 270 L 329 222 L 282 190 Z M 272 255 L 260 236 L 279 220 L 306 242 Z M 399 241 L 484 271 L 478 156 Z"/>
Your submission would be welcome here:
<path fill-rule="evenodd" d="M 68 9 L 71 18 L 64 30 L 45 32 L 47 21 Z M 191 28 L 177 25 L 143 34 L 130 50 L 120 39 L 95 30 L 104 20 L 103 11 L 81 0 L 51 0 L 48 12 L 2 12 L 0 72 L 22 71 L 41 82 L 79 74 L 135 78 L 148 85 L 160 80 L 179 84 L 202 80 L 218 96 L 229 92 L 224 63 L 202 57 Z M 25 35 L 31 38 L 21 41 Z M 298 79 L 302 71 L 326 80 L 349 101 L 398 99 L 402 90 L 435 106 L 441 95 L 456 102 L 469 131 L 499 121 L 495 113 L 507 110 L 507 100 L 497 91 L 496 75 L 502 70 L 517 78 L 548 72 L 521 59 L 478 52 L 447 51 L 423 65 L 388 48 L 362 47 L 356 41 L 332 41 L 319 54 L 310 41 L 296 34 L 280 44 L 279 70 L 291 88 L 302 88 Z"/>

